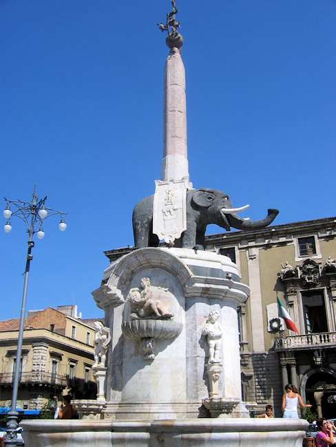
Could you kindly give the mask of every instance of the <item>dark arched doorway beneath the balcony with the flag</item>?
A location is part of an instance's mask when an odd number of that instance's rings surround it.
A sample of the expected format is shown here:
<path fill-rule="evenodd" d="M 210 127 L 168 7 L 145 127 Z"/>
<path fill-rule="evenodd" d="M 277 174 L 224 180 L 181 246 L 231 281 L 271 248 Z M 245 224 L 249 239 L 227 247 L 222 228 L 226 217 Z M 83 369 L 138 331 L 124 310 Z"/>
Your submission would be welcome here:
<path fill-rule="evenodd" d="M 322 413 L 330 419 L 336 417 L 336 373 L 335 371 L 312 371 L 306 379 L 304 387 L 306 402 L 313 405 L 312 411 Z"/>

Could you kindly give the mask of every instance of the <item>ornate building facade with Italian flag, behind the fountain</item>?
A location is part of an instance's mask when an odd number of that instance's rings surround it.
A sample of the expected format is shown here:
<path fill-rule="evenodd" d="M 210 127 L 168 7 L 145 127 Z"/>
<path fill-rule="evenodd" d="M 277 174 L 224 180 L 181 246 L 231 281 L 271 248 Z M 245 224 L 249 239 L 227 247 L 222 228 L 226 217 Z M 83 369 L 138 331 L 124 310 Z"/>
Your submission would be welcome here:
<path fill-rule="evenodd" d="M 281 416 L 284 385 L 300 389 L 313 412 L 336 414 L 336 218 L 209 235 L 207 250 L 238 265 L 250 287 L 239 309 L 242 395 L 255 411 Z M 105 252 L 114 261 L 132 248 Z M 298 334 L 278 318 L 277 296 Z"/>

